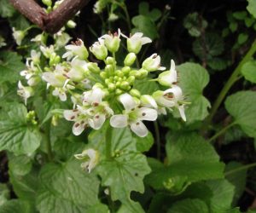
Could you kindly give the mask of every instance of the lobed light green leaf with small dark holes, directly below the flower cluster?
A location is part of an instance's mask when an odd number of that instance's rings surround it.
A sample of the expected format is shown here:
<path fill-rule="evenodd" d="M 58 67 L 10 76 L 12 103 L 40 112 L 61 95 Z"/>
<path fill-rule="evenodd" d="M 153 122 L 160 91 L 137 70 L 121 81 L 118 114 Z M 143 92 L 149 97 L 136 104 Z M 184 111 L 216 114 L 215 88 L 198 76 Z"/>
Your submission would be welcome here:
<path fill-rule="evenodd" d="M 105 133 L 106 129 L 103 129 L 100 133 L 93 131 L 89 136 L 89 145 L 101 147 L 102 155 L 106 152 Z M 108 134 L 111 134 L 108 139 L 111 140 L 112 157 L 103 159 L 96 167 L 102 177 L 102 186 L 110 188 L 111 199 L 122 202 L 120 212 L 142 212 L 141 206 L 130 199 L 130 193 L 144 191 L 143 177 L 150 172 L 147 158 L 137 152 L 137 140 L 128 128 L 109 129 Z"/>

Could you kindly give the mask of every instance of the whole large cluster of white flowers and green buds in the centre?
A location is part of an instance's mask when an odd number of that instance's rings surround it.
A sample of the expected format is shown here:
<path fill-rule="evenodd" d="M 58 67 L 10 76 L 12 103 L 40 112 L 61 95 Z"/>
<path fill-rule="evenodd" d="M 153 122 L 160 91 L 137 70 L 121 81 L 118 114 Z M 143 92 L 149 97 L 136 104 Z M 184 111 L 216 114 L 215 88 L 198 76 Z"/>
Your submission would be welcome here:
<path fill-rule="evenodd" d="M 115 54 L 119 50 L 121 37 L 125 37 L 128 54 L 124 65 L 118 66 Z M 143 121 L 154 121 L 166 109 L 177 108 L 185 121 L 182 89 L 177 86 L 177 71 L 171 60 L 170 70 L 160 66 L 160 55 L 153 54 L 143 61 L 141 68 L 133 64 L 143 45 L 151 39 L 137 32 L 131 37 L 115 32 L 106 34 L 90 47 L 96 60 L 102 60 L 104 68 L 96 62 L 90 62 L 89 52 L 82 40 L 67 45 L 66 53 L 61 57 L 55 53 L 53 46 L 41 46 L 41 52 L 48 61 L 48 66 L 40 68 L 40 53 L 32 51 L 27 60 L 26 71 L 20 72 L 27 80 L 28 87 L 19 83 L 19 94 L 26 99 L 32 95 L 32 86 L 42 78 L 52 95 L 61 101 L 67 101 L 70 94 L 74 107 L 64 111 L 64 118 L 73 121 L 73 134 L 80 135 L 84 129 L 91 127 L 101 129 L 109 118 L 113 128 L 130 127 L 138 136 L 148 135 Z M 111 55 L 111 56 L 109 56 Z M 44 71 L 43 71 L 44 70 Z M 159 82 L 166 90 L 157 90 L 153 94 L 141 95 L 134 88 L 134 82 L 148 77 L 149 72 L 158 72 Z"/>

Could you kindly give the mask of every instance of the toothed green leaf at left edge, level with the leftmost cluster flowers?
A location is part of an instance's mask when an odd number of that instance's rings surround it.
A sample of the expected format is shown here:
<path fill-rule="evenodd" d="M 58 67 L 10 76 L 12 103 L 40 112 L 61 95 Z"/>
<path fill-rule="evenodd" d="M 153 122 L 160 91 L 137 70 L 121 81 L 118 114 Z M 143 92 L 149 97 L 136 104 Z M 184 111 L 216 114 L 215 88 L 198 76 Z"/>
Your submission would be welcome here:
<path fill-rule="evenodd" d="M 10 83 L 18 82 L 20 71 L 25 69 L 25 65 L 21 62 L 21 59 L 21 56 L 15 52 L 0 52 L 0 83 L 5 81 Z"/>

